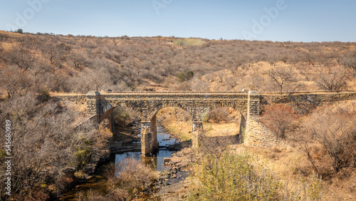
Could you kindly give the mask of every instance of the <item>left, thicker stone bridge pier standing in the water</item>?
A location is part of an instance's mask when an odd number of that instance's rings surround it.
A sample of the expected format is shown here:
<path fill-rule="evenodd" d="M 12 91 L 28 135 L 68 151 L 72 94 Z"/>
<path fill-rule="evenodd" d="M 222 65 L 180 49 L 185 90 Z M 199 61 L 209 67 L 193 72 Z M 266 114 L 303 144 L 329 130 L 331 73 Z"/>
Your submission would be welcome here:
<path fill-rule="evenodd" d="M 151 155 L 158 148 L 156 117 L 142 121 L 141 154 Z"/>

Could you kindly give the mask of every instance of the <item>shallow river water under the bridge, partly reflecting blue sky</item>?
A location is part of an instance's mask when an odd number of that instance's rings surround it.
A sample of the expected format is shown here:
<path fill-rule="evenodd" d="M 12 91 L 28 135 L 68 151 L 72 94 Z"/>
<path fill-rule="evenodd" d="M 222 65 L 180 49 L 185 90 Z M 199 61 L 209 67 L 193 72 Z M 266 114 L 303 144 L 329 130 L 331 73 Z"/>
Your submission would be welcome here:
<path fill-rule="evenodd" d="M 139 135 L 140 137 L 140 135 Z M 150 157 L 142 158 L 141 152 L 125 152 L 125 153 L 112 153 L 110 155 L 110 161 L 105 163 L 101 163 L 98 165 L 97 170 L 95 171 L 95 175 L 93 175 L 90 179 L 80 182 L 79 185 L 73 187 L 73 189 L 66 192 L 63 196 L 59 197 L 58 200 L 76 200 L 78 192 L 87 193 L 90 189 L 103 192 L 108 189 L 108 180 L 105 178 L 105 168 L 110 165 L 110 163 L 119 163 L 120 160 L 124 158 L 135 158 L 136 160 L 141 160 L 142 163 L 146 165 L 150 165 L 150 167 L 159 172 L 163 172 L 164 170 L 168 170 L 170 167 L 164 165 L 164 158 L 170 157 L 174 150 L 169 150 L 166 148 L 168 145 L 174 145 L 174 143 L 179 143 L 177 138 L 173 138 L 172 135 L 167 134 L 164 131 L 162 126 L 157 126 L 157 141 L 159 142 L 159 149 L 155 155 Z M 180 174 L 180 173 L 179 173 Z"/>

